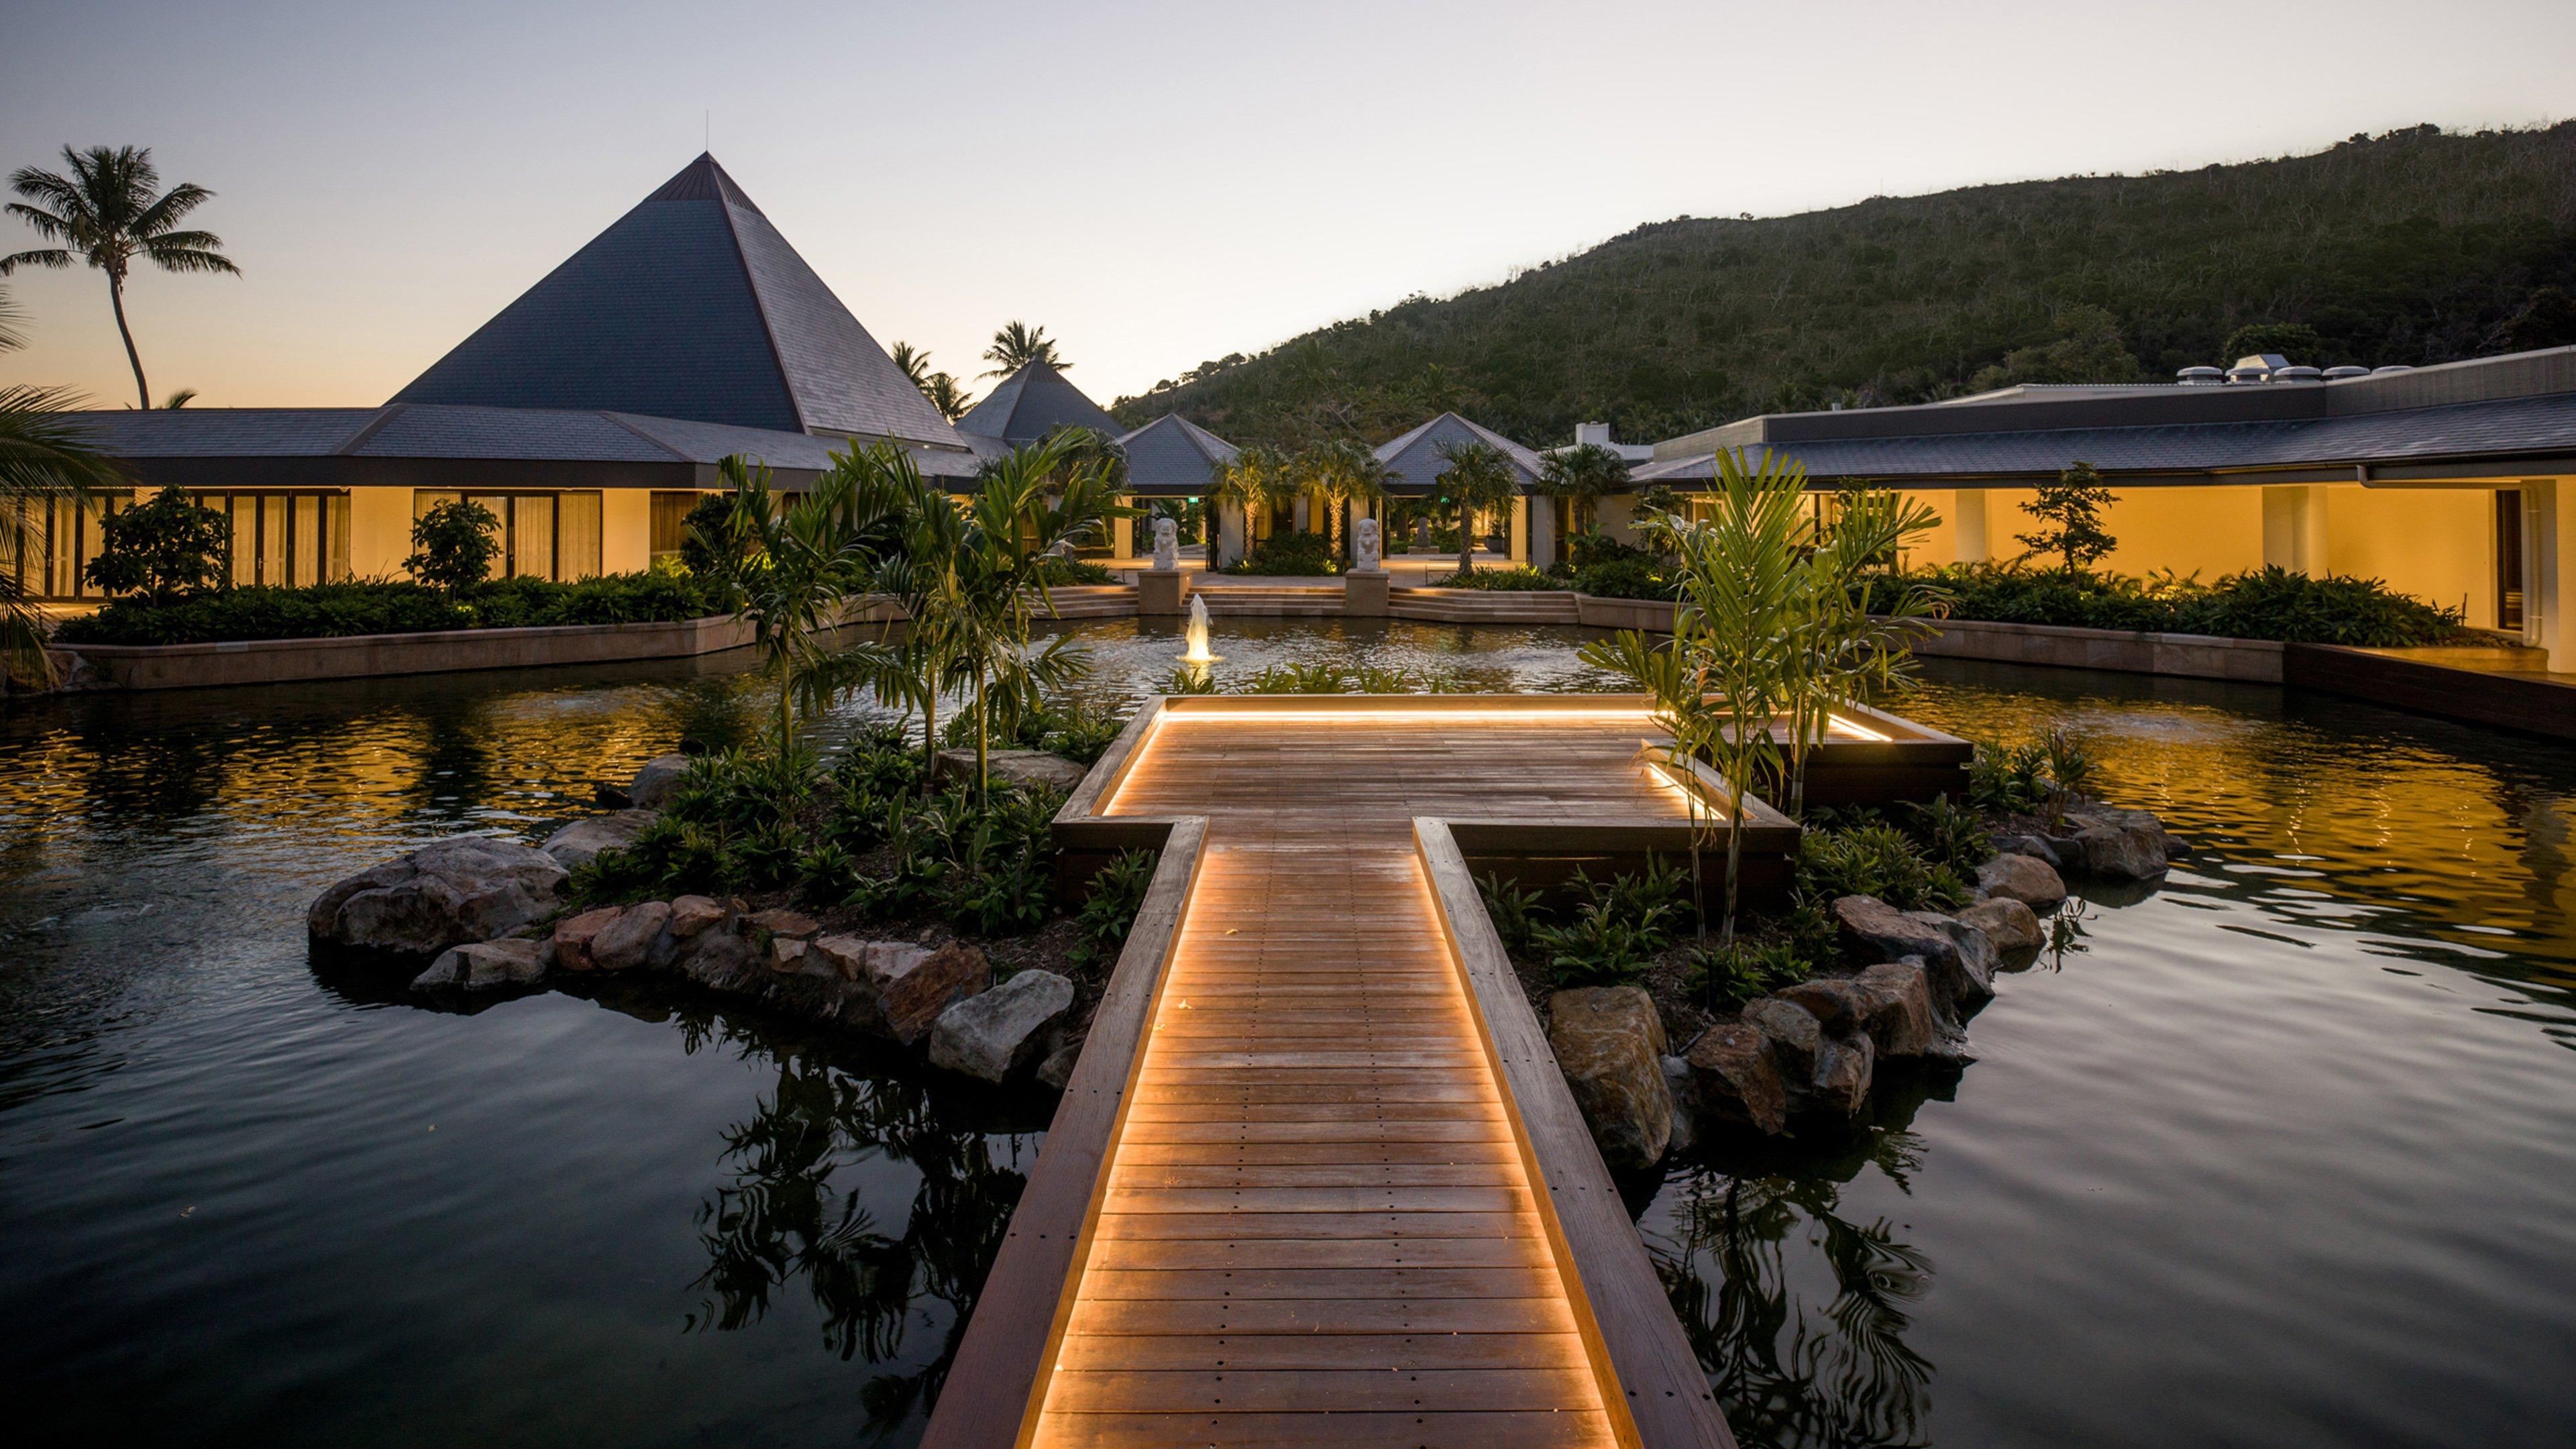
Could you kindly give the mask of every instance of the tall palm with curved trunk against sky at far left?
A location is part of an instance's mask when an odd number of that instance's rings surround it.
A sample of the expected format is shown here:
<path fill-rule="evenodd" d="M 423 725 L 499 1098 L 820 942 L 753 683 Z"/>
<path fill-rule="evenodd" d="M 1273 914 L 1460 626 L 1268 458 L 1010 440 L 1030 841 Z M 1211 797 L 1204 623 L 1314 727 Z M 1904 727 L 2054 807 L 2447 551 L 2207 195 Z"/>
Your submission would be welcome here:
<path fill-rule="evenodd" d="M 108 273 L 108 307 L 116 309 L 116 335 L 126 340 L 126 361 L 134 364 L 137 405 L 152 407 L 152 387 L 144 384 L 144 358 L 134 351 L 134 327 L 126 325 L 126 273 L 137 260 L 149 260 L 162 271 L 222 271 L 240 276 L 224 255 L 224 240 L 214 232 L 183 232 L 178 224 L 214 191 L 196 183 L 178 183 L 160 191 L 160 170 L 152 168 L 152 150 L 90 147 L 75 152 L 62 147 L 62 160 L 72 175 L 26 168 L 10 175 L 10 186 L 26 201 L 10 201 L 10 217 L 36 229 L 39 237 L 62 242 L 0 258 L 0 276 L 21 266 L 72 266 L 72 258 Z"/>

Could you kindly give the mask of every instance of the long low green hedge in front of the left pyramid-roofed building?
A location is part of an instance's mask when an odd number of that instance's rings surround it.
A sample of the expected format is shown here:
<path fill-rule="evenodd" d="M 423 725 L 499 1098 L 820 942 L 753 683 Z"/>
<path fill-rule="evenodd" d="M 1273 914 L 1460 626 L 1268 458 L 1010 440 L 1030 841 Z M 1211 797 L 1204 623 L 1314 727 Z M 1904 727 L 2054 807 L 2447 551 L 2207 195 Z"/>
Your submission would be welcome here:
<path fill-rule="evenodd" d="M 520 629 L 533 624 L 649 624 L 706 619 L 726 603 L 711 580 L 680 572 L 621 572 L 551 583 L 513 578 L 464 593 L 420 583 L 355 580 L 304 588 L 224 588 L 155 603 L 116 598 L 64 619 L 67 645 L 211 645 L 224 639 L 340 639 L 430 629 Z"/>

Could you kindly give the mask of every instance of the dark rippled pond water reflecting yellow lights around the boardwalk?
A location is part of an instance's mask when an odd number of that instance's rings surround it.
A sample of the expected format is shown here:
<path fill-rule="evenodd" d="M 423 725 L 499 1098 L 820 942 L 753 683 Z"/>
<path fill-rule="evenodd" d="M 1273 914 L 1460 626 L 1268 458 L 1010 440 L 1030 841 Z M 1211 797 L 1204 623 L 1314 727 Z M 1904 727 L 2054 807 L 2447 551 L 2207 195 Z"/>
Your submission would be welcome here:
<path fill-rule="evenodd" d="M 1177 642 L 1074 627 L 1100 696 Z M 1221 624 L 1226 670 L 1597 688 L 1571 629 Z M 1631 1183 L 1747 1444 L 2576 1436 L 2576 750 L 2262 686 L 1927 668 L 2195 856 L 1978 1062 Z M 737 660 L 0 719 L 0 1403 L 116 1444 L 909 1444 L 1048 1104 L 611 985 L 307 962 L 335 877 L 538 835 Z"/>

